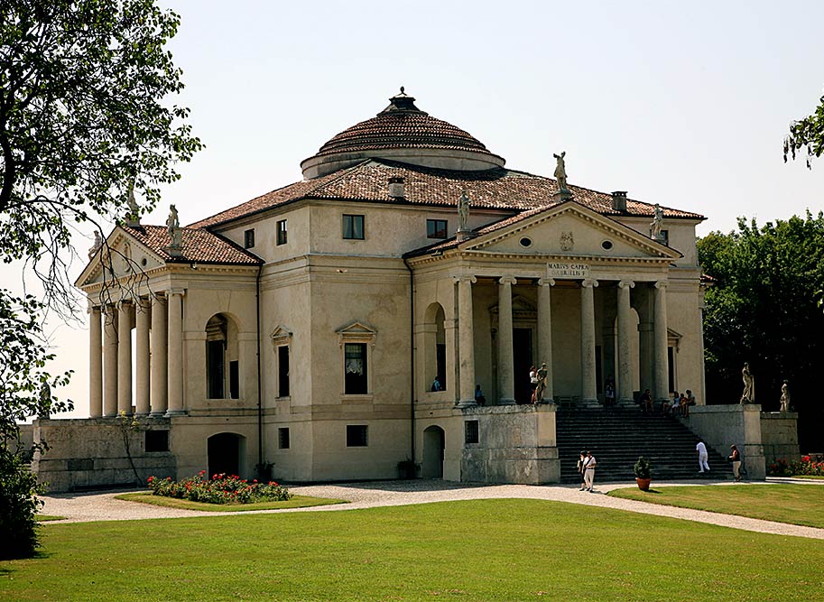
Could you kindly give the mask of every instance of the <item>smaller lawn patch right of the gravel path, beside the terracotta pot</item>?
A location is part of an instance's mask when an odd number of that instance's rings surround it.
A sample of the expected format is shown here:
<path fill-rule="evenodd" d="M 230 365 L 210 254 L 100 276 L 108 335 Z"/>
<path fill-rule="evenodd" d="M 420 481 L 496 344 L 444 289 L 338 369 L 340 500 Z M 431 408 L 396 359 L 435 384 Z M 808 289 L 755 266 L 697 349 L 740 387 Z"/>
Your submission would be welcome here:
<path fill-rule="evenodd" d="M 666 486 L 648 492 L 628 487 L 609 495 L 824 529 L 824 486 L 820 485 Z"/>

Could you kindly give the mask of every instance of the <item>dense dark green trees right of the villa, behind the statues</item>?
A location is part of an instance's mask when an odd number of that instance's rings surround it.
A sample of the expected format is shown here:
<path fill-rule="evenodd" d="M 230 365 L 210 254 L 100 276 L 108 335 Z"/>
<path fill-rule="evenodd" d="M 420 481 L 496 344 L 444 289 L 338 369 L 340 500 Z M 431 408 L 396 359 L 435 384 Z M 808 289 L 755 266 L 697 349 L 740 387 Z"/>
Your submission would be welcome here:
<path fill-rule="evenodd" d="M 818 449 L 819 372 L 824 357 L 824 215 L 767 222 L 739 218 L 736 232 L 699 239 L 699 261 L 717 282 L 708 288 L 704 339 L 709 403 L 737 403 L 749 362 L 756 402 L 776 411 L 790 382 L 801 414 L 801 446 Z"/>

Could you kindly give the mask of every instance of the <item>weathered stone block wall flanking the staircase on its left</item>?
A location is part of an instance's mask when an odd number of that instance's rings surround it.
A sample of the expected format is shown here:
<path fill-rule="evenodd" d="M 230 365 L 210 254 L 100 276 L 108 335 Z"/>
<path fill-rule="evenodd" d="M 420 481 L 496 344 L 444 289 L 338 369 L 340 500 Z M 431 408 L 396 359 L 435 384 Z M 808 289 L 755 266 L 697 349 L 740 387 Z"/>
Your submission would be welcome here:
<path fill-rule="evenodd" d="M 464 409 L 465 423 L 477 421 L 477 443 L 464 444 L 460 480 L 521 485 L 558 483 L 555 410 L 554 404 Z"/>

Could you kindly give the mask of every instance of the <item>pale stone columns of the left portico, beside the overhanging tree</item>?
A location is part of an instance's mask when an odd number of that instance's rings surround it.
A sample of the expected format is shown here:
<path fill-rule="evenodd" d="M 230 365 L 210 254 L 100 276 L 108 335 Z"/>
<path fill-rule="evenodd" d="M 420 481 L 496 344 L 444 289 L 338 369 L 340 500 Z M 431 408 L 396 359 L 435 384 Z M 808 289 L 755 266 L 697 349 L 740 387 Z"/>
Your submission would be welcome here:
<path fill-rule="evenodd" d="M 89 415 L 171 416 L 183 406 L 182 289 L 90 306 Z M 134 363 L 132 374 L 132 321 Z M 135 398 L 132 399 L 134 377 Z"/>

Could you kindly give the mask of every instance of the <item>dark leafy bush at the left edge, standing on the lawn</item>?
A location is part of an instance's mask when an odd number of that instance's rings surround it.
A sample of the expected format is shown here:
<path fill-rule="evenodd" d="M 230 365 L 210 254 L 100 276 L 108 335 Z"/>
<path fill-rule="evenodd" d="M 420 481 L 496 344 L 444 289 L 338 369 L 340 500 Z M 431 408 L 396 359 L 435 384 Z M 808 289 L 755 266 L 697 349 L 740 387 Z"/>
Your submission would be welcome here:
<path fill-rule="evenodd" d="M 38 547 L 34 514 L 43 503 L 37 493 L 37 477 L 20 454 L 0 447 L 0 560 L 29 557 Z"/>

